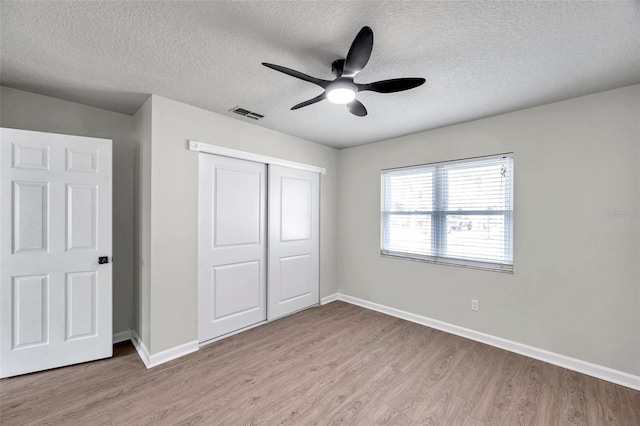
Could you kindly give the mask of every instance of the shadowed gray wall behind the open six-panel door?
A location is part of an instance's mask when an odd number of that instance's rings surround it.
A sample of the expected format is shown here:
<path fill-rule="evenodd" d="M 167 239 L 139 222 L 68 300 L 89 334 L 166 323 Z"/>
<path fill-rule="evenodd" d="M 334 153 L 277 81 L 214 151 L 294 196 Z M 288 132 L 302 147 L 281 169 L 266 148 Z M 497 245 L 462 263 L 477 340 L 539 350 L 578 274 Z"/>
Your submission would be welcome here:
<path fill-rule="evenodd" d="M 133 326 L 133 117 L 0 87 L 0 126 L 113 140 L 113 332 Z"/>

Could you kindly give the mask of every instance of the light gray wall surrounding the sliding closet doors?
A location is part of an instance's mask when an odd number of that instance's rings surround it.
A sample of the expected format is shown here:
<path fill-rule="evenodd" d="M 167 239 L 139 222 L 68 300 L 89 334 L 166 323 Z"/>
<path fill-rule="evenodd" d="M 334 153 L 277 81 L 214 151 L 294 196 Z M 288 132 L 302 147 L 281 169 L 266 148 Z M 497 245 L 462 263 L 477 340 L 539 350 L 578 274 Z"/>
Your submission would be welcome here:
<path fill-rule="evenodd" d="M 152 112 L 151 354 L 198 337 L 198 153 L 187 149 L 189 139 L 327 169 L 320 181 L 320 295 L 336 292 L 337 150 L 159 96 L 152 96 Z"/>

